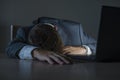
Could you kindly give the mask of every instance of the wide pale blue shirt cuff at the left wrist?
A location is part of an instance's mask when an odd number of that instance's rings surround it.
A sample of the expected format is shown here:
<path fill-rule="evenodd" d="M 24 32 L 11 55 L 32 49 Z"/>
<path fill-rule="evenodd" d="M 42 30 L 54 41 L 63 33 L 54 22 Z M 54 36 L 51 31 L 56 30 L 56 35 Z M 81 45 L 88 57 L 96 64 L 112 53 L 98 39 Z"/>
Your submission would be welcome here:
<path fill-rule="evenodd" d="M 33 59 L 31 52 L 35 48 L 37 47 L 31 46 L 31 45 L 24 46 L 18 54 L 19 58 L 20 59 Z"/>

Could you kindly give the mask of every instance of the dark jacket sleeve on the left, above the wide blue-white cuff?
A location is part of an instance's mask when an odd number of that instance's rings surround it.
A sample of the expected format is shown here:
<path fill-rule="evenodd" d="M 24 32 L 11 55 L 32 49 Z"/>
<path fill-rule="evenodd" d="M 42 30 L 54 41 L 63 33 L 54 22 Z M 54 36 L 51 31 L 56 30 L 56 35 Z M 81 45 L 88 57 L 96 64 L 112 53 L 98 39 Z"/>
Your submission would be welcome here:
<path fill-rule="evenodd" d="M 19 51 L 26 45 L 28 44 L 25 31 L 23 28 L 20 28 L 17 31 L 16 38 L 8 44 L 6 54 L 9 57 L 18 58 Z"/>

